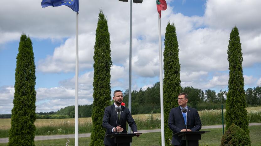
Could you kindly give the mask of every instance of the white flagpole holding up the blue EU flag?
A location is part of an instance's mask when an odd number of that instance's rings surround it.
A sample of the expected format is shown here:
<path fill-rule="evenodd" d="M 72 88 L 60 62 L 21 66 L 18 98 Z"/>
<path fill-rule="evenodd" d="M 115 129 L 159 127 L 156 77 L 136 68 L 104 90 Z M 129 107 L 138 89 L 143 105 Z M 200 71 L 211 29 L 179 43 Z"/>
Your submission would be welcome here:
<path fill-rule="evenodd" d="M 78 146 L 78 12 L 76 13 L 76 47 L 75 47 L 75 146 Z"/>

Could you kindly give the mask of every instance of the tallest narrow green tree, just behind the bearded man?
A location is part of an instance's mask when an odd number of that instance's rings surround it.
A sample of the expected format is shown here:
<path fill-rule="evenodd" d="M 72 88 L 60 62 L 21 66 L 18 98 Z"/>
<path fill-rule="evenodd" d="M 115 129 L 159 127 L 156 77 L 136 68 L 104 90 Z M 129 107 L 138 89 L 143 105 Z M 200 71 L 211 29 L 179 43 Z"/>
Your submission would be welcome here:
<path fill-rule="evenodd" d="M 104 109 L 110 105 L 111 100 L 110 67 L 112 61 L 110 52 L 110 34 L 107 19 L 100 10 L 93 56 L 93 129 L 90 144 L 93 146 L 104 145 L 105 129 L 102 127 L 102 119 Z"/>

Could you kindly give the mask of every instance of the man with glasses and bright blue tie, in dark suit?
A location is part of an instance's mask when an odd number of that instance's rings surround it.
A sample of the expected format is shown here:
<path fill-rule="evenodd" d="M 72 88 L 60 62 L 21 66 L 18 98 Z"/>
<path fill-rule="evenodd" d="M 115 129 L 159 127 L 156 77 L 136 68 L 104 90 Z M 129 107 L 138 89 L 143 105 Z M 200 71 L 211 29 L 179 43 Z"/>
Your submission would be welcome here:
<path fill-rule="evenodd" d="M 201 129 L 201 121 L 199 113 L 196 109 L 188 107 L 188 95 L 186 93 L 178 94 L 178 107 L 173 108 L 169 112 L 168 127 L 173 131 L 173 134 L 186 131 L 199 131 Z M 182 109 L 187 109 L 187 112 L 182 112 Z M 172 136 L 172 144 L 174 146 L 185 146 L 186 141 L 183 141 L 177 135 Z"/>

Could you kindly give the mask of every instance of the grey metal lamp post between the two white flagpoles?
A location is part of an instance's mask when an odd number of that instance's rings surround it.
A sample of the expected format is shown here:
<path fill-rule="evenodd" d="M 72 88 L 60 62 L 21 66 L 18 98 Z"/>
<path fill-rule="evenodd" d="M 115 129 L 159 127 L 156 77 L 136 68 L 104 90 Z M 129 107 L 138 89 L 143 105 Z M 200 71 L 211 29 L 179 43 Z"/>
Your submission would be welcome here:
<path fill-rule="evenodd" d="M 128 0 L 119 0 L 121 2 L 128 2 Z M 142 3 L 143 0 L 133 0 L 134 3 Z M 128 108 L 131 112 L 131 20 L 132 20 L 132 2 L 130 0 L 131 3 L 131 12 L 130 12 L 130 59 L 129 59 L 129 105 Z M 131 128 L 128 125 L 128 133 L 131 133 Z M 130 144 L 131 145 L 131 144 Z"/>

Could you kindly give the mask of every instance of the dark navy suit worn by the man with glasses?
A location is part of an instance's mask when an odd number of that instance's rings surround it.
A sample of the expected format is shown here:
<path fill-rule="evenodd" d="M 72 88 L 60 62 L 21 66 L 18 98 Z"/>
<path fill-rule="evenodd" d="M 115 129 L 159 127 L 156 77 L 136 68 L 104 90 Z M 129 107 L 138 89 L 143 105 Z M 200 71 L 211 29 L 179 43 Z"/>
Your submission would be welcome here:
<path fill-rule="evenodd" d="M 186 129 L 185 121 L 180 107 L 176 107 L 170 110 L 168 117 L 168 127 L 173 131 L 173 134 L 180 132 L 182 129 Z M 201 129 L 201 121 L 199 113 L 196 109 L 188 107 L 187 112 L 187 127 L 191 131 L 199 131 Z M 183 141 L 177 135 L 172 136 L 173 145 L 182 145 Z"/>

